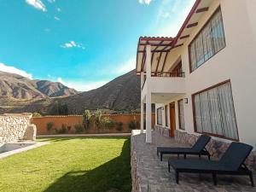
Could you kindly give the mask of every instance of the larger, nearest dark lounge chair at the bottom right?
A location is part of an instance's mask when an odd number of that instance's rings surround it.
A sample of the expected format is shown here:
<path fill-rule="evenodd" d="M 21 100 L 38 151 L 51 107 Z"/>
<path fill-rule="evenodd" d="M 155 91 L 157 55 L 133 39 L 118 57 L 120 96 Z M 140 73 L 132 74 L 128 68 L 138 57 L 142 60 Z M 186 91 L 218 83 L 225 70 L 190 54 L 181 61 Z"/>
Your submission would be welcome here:
<path fill-rule="evenodd" d="M 211 160 L 169 160 L 170 166 L 175 171 L 176 183 L 178 184 L 178 174 L 180 172 L 190 173 L 208 173 L 212 174 L 213 182 L 217 184 L 217 174 L 224 175 L 248 175 L 253 183 L 253 172 L 251 172 L 244 161 L 251 153 L 253 147 L 245 143 L 231 143 L 230 147 L 225 151 L 218 161 Z"/>

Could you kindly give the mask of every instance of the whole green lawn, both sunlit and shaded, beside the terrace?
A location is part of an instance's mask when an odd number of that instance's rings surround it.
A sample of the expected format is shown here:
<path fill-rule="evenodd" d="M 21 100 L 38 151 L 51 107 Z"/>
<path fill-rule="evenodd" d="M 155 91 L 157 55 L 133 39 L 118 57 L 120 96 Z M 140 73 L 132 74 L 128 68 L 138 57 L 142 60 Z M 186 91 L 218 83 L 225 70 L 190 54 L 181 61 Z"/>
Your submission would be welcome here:
<path fill-rule="evenodd" d="M 131 191 L 127 137 L 48 138 L 0 160 L 1 192 Z"/>

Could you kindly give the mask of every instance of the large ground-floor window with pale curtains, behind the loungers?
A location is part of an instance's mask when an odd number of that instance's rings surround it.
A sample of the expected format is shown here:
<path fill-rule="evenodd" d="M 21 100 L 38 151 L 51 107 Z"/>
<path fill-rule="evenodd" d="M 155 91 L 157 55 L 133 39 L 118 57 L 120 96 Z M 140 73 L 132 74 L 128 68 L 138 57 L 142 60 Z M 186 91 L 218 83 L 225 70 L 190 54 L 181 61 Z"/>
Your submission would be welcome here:
<path fill-rule="evenodd" d="M 193 95 L 195 131 L 238 140 L 230 81 Z"/>

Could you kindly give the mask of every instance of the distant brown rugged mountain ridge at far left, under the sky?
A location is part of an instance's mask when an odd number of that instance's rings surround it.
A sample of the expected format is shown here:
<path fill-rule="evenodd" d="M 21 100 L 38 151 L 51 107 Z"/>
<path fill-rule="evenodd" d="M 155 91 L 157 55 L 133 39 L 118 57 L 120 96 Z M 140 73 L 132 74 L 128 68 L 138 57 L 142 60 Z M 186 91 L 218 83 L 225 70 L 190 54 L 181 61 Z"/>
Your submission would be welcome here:
<path fill-rule="evenodd" d="M 78 91 L 59 82 L 32 80 L 15 73 L 0 72 L 0 96 L 10 99 L 39 99 L 54 96 L 71 96 Z"/>

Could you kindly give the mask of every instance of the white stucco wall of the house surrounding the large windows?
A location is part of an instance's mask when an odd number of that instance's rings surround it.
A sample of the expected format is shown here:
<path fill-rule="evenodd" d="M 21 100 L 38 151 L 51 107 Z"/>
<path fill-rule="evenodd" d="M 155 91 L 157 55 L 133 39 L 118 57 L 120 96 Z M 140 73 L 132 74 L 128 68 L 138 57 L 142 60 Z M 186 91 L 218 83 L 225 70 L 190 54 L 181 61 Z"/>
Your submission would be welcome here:
<path fill-rule="evenodd" d="M 224 20 L 226 47 L 193 73 L 189 73 L 188 44 L 201 30 L 201 27 L 219 4 Z M 189 133 L 194 133 L 191 95 L 230 79 L 240 141 L 256 147 L 255 9 L 256 1 L 253 0 L 214 0 L 207 13 L 199 21 L 199 25 L 190 33 L 189 39 L 179 49 L 186 77 L 186 94 L 163 103 L 162 106 L 175 101 L 177 114 L 177 100 L 182 97 L 188 98 L 189 103 L 184 104 L 184 115 L 186 131 Z M 178 58 L 177 51 L 173 55 L 173 61 L 175 61 Z M 176 123 L 178 127 L 178 119 L 176 119 Z"/>

